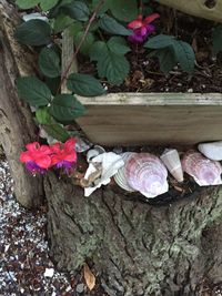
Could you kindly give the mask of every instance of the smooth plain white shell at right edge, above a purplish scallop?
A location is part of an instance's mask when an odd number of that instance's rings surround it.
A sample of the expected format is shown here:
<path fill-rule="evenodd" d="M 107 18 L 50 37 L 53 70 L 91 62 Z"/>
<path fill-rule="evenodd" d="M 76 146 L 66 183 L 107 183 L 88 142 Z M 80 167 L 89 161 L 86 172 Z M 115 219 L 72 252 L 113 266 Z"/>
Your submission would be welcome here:
<path fill-rule="evenodd" d="M 199 151 L 212 161 L 222 161 L 222 141 L 212 143 L 201 143 L 198 145 Z"/>

